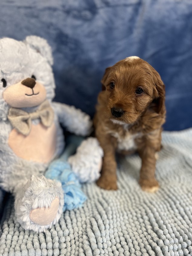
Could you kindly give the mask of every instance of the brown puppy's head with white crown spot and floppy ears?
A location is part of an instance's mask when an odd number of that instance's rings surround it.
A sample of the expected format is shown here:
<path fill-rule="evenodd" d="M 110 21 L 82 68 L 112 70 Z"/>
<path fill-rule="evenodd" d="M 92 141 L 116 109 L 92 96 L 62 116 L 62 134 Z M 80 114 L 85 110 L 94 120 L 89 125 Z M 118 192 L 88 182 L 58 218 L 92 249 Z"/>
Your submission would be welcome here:
<path fill-rule="evenodd" d="M 101 80 L 106 111 L 114 123 L 132 124 L 148 108 L 164 111 L 164 84 L 147 62 L 129 57 L 107 68 Z"/>

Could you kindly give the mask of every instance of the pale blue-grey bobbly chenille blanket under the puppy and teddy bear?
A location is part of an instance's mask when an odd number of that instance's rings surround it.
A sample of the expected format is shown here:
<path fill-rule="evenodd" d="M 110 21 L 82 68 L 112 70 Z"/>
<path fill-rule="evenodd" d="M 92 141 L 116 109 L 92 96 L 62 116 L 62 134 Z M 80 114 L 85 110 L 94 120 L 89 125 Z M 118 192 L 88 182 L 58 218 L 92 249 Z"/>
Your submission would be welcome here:
<path fill-rule="evenodd" d="M 192 255 L 192 129 L 163 133 L 155 194 L 139 187 L 140 166 L 137 155 L 118 159 L 119 190 L 84 185 L 83 208 L 65 211 L 45 233 L 15 222 L 10 197 L 0 255 Z"/>

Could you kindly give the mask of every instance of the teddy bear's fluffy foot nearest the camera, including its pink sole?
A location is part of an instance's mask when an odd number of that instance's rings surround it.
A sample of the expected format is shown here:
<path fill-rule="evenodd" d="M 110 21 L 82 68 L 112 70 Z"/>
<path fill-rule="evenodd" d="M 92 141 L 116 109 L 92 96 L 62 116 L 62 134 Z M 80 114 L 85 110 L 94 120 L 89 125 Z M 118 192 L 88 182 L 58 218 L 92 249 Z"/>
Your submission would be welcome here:
<path fill-rule="evenodd" d="M 24 229 L 41 232 L 58 222 L 63 205 L 61 183 L 33 175 L 16 194 L 15 212 Z"/>

